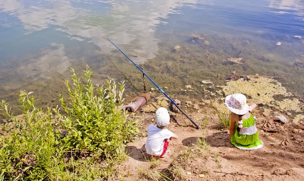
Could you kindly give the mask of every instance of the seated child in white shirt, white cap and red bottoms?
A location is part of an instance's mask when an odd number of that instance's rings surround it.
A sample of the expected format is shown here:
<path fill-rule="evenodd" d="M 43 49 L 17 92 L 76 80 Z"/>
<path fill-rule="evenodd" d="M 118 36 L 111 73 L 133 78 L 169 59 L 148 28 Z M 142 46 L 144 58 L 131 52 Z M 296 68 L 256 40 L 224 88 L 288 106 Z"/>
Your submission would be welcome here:
<path fill-rule="evenodd" d="M 148 137 L 145 149 L 147 154 L 155 158 L 163 158 L 170 153 L 168 146 L 171 138 L 177 139 L 178 136 L 166 129 L 170 123 L 170 116 L 165 107 L 158 108 L 155 121 L 157 125 L 151 124 L 146 128 Z"/>

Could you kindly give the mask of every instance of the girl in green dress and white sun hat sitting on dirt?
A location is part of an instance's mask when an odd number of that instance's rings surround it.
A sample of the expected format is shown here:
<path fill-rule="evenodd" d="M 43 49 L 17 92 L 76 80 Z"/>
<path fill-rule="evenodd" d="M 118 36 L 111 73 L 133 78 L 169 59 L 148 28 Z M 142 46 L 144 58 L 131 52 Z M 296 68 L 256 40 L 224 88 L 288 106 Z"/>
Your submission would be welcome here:
<path fill-rule="evenodd" d="M 258 138 L 254 118 L 251 114 L 255 103 L 246 103 L 246 96 L 233 94 L 225 98 L 225 103 L 232 114 L 230 116 L 230 140 L 241 150 L 256 150 L 263 147 L 263 141 Z"/>

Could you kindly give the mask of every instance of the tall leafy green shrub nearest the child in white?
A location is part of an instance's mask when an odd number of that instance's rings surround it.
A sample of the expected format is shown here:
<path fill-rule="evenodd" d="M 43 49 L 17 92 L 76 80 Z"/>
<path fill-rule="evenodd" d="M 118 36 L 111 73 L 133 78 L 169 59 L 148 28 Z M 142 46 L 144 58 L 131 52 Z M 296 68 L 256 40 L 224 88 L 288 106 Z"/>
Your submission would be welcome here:
<path fill-rule="evenodd" d="M 84 71 L 84 85 L 78 74 L 73 69 L 71 71 L 73 87 L 68 81 L 65 82 L 68 101 L 60 95 L 65 114 L 56 111 L 67 131 L 65 139 L 75 151 L 98 152 L 103 156 L 120 154 L 122 144 L 132 140 L 139 131 L 137 125 L 127 119 L 127 114 L 121 110 L 124 82 L 119 84 L 117 93 L 113 79 L 106 80 L 105 88 L 94 87 L 92 71 L 88 66 Z"/>

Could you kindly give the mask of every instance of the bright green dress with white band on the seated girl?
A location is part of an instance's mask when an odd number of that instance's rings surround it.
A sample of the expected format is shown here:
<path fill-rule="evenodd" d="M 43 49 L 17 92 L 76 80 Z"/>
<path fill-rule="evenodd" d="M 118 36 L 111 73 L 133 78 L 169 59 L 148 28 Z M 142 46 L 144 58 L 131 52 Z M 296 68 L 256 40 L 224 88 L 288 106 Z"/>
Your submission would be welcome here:
<path fill-rule="evenodd" d="M 248 119 L 242 120 L 243 128 L 237 130 L 239 122 L 236 122 L 236 129 L 231 137 L 231 143 L 241 150 L 256 150 L 263 147 L 263 141 L 258 138 L 255 121 L 250 114 Z"/>

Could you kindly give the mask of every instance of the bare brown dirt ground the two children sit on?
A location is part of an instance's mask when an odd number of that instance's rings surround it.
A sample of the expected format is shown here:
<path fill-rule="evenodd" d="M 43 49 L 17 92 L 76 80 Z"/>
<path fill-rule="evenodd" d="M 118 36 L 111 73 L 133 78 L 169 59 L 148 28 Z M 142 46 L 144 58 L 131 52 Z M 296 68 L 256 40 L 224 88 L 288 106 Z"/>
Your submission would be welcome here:
<path fill-rule="evenodd" d="M 154 123 L 153 112 L 137 113 L 142 123 L 145 135 L 129 143 L 126 152 L 127 161 L 121 166 L 124 180 L 158 180 L 144 177 L 139 170 L 166 173 L 172 165 L 184 156 L 188 157 L 180 162 L 182 165 L 182 178 L 172 177 L 172 180 L 304 180 L 304 123 L 282 123 L 270 117 L 264 117 L 257 108 L 256 126 L 259 138 L 264 142 L 261 149 L 242 151 L 235 148 L 229 139 L 228 130 L 217 129 L 217 116 L 212 112 L 210 105 L 204 111 L 193 111 L 188 114 L 201 126 L 196 129 L 194 125 L 180 114 L 171 114 L 169 130 L 176 133 L 179 138 L 172 140 L 169 148 L 170 155 L 158 160 L 150 160 L 145 153 L 144 144 L 146 134 L 144 128 Z M 187 113 L 186 112 L 186 113 Z M 191 113 L 192 112 L 192 113 Z M 198 113 L 200 112 L 200 113 Z M 204 123 L 204 120 L 208 121 Z M 207 141 L 204 152 L 197 154 L 198 138 Z M 203 155 L 203 156 L 202 156 Z M 168 175 L 168 174 L 167 174 Z"/>

